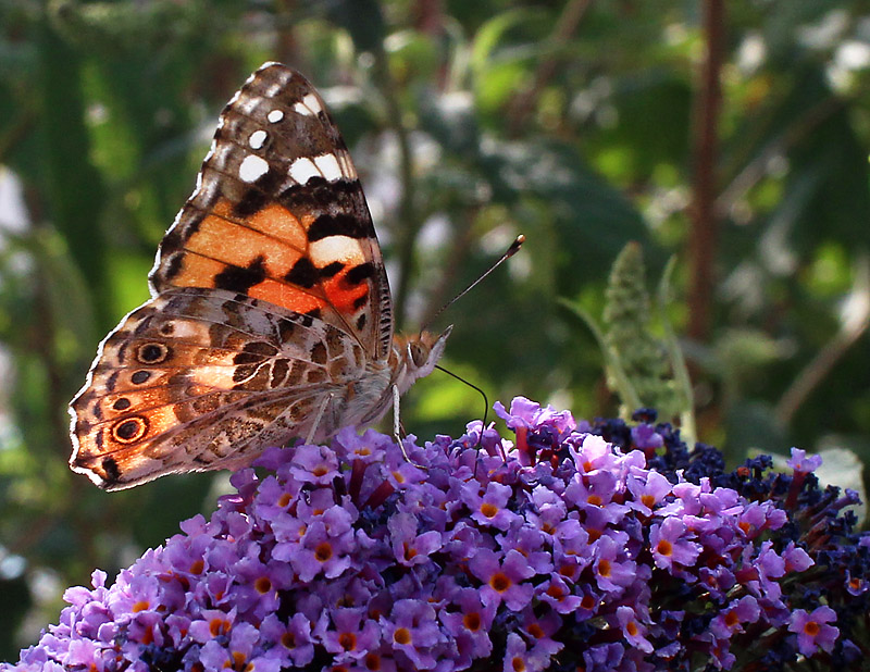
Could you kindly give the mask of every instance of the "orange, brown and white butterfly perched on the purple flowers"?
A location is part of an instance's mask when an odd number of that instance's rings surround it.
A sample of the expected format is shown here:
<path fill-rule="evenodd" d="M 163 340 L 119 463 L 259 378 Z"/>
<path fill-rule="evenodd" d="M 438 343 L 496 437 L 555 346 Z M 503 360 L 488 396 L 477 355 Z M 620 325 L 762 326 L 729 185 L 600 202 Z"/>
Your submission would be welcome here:
<path fill-rule="evenodd" d="M 221 113 L 149 286 L 70 405 L 70 465 L 107 490 L 372 424 L 450 334 L 394 335 L 347 146 L 312 85 L 279 63 Z"/>

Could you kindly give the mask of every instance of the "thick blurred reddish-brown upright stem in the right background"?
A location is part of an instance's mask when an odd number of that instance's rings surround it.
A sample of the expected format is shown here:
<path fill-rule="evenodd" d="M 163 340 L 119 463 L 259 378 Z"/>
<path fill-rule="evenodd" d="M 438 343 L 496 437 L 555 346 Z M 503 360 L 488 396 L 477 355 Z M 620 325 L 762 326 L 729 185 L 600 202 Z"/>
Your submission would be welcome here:
<path fill-rule="evenodd" d="M 688 335 L 706 341 L 710 335 L 710 314 L 716 281 L 716 251 L 719 216 L 716 209 L 716 164 L 718 125 L 721 108 L 720 71 L 725 32 L 724 0 L 706 0 L 704 32 L 707 53 L 700 72 L 700 90 L 693 110 L 693 198 L 688 236 L 689 288 Z"/>

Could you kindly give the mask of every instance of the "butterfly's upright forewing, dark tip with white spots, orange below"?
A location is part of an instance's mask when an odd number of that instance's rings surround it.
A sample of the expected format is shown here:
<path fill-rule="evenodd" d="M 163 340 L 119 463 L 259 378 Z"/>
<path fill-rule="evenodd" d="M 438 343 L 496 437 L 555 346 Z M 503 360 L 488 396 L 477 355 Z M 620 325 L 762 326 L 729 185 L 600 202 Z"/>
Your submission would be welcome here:
<path fill-rule="evenodd" d="M 224 109 L 151 284 L 310 312 L 386 358 L 391 302 L 365 197 L 323 100 L 299 73 L 268 64 Z"/>

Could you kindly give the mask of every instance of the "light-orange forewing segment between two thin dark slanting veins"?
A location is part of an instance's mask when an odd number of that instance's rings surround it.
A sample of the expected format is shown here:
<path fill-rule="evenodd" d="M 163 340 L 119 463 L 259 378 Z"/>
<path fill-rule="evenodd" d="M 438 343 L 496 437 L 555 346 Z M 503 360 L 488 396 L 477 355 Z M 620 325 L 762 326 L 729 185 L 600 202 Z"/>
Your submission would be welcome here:
<path fill-rule="evenodd" d="M 273 277 L 286 274 L 302 256 L 286 242 L 215 215 L 202 220 L 185 247 L 240 269 L 263 259 L 266 273 Z"/>

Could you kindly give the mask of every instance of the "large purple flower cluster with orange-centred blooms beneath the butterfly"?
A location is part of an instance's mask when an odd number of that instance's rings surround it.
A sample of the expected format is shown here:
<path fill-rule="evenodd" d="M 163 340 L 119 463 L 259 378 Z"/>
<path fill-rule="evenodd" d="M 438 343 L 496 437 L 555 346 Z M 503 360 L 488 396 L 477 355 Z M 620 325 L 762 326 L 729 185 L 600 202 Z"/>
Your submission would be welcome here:
<path fill-rule="evenodd" d="M 759 458 L 725 472 L 644 411 L 580 423 L 517 398 L 424 447 L 340 432 L 266 451 L 0 670 L 778 670 L 860 659 L 870 538 Z M 425 464 L 420 469 L 418 464 Z M 866 631 L 865 631 L 866 632 Z"/>

